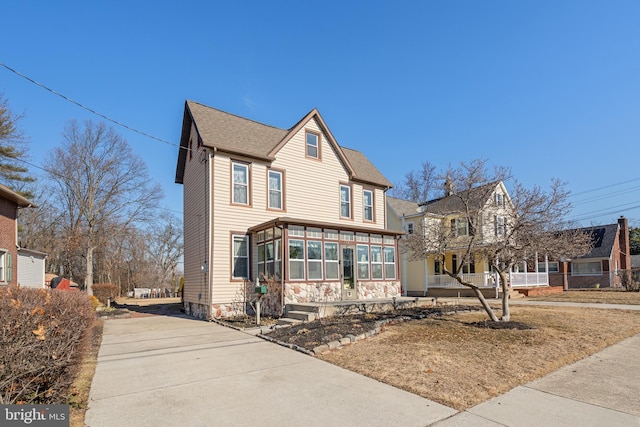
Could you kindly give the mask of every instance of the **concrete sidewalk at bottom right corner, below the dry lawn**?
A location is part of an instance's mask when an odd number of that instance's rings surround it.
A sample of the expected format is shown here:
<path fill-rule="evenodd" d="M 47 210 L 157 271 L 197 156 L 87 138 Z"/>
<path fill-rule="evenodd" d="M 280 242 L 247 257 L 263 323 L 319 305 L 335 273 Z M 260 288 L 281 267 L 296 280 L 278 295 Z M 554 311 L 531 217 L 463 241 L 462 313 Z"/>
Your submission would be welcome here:
<path fill-rule="evenodd" d="M 435 425 L 640 426 L 638 354 L 640 335 Z"/>

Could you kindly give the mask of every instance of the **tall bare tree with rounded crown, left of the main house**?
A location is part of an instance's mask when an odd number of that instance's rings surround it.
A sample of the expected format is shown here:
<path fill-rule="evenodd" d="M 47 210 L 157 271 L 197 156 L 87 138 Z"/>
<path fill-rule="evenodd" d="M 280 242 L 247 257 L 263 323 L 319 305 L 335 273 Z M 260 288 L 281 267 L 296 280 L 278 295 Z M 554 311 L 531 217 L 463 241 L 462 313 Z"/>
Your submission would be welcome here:
<path fill-rule="evenodd" d="M 104 123 L 70 121 L 46 170 L 64 206 L 68 235 L 82 236 L 86 259 L 85 287 L 91 295 L 93 255 L 106 225 L 121 228 L 147 220 L 162 197 L 150 185 L 145 163 L 126 140 Z"/>

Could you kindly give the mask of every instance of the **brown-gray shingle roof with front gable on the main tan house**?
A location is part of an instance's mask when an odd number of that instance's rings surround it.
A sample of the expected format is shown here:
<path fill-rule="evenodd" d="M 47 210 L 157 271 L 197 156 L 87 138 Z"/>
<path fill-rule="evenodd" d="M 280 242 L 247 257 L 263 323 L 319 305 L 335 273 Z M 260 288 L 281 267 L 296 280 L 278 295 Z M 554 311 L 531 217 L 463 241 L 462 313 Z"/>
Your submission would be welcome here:
<path fill-rule="evenodd" d="M 207 107 L 198 102 L 186 101 L 176 182 L 182 183 L 191 123 L 195 125 L 205 147 L 269 161 L 274 160 L 274 155 L 277 154 L 280 144 L 286 142 L 286 139 L 300 125 L 304 125 L 305 119 L 308 120 L 316 115 L 321 125 L 325 126 L 317 110 L 312 110 L 291 129 L 280 129 Z M 392 187 L 392 184 L 364 154 L 357 150 L 340 147 L 333 140 L 331 132 L 328 129 L 325 130 L 329 136 L 329 143 L 334 144 L 338 156 L 343 159 L 345 168 L 351 174 L 351 179 L 382 187 Z"/>

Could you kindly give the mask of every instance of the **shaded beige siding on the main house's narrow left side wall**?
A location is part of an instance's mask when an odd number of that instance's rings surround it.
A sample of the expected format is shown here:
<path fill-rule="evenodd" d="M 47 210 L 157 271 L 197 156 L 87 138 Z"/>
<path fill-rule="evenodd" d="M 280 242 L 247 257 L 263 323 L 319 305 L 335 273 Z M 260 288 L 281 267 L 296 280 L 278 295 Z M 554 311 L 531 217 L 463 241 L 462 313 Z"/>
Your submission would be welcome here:
<path fill-rule="evenodd" d="M 198 136 L 191 128 L 193 149 L 198 148 Z M 207 163 L 200 162 L 200 152 L 194 151 L 191 160 L 187 153 L 184 170 L 184 300 L 196 304 L 207 304 L 209 289 L 202 264 L 208 252 L 207 216 L 208 175 Z"/>

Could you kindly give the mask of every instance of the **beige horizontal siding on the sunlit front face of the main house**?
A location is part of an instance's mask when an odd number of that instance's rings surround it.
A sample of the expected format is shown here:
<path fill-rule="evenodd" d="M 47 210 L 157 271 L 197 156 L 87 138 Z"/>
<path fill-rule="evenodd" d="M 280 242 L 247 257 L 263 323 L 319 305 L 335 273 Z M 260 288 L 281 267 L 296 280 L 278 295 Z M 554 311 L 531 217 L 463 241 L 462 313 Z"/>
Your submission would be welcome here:
<path fill-rule="evenodd" d="M 280 149 L 276 154 L 276 160 L 271 164 L 260 160 L 234 157 L 220 151 L 213 157 L 215 171 L 213 180 L 215 196 L 213 209 L 214 262 L 211 268 L 213 304 L 239 303 L 243 299 L 244 282 L 231 280 L 232 232 L 246 233 L 249 228 L 279 216 L 331 224 L 384 228 L 384 191 L 375 188 L 376 222 L 365 223 L 362 210 L 362 185 L 359 183 L 351 183 L 353 219 L 340 218 L 340 183 L 349 183 L 349 175 L 324 134 L 320 138 L 321 160 L 305 156 L 305 129 L 320 132 L 317 123 L 312 120 Z M 231 204 L 231 192 L 233 191 L 231 165 L 233 160 L 250 164 L 250 206 Z M 284 171 L 284 211 L 267 209 L 268 167 Z M 367 188 L 372 187 L 368 186 Z M 253 240 L 250 241 L 252 250 L 249 265 L 252 273 L 257 268 L 255 243 Z M 283 244 L 283 247 L 286 245 Z M 252 276 L 251 279 L 255 280 L 255 277 Z"/>

